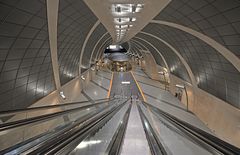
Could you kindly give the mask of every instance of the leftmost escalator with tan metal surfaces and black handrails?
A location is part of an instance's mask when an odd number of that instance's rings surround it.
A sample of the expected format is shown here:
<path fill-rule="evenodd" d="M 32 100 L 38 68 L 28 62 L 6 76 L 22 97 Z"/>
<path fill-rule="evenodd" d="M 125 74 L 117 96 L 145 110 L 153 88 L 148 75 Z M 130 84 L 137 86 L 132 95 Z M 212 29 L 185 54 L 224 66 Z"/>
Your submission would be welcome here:
<path fill-rule="evenodd" d="M 68 147 L 80 134 L 86 136 L 89 129 L 101 127 L 126 101 L 102 99 L 94 104 L 77 102 L 2 112 L 1 117 L 15 115 L 15 118 L 0 124 L 0 154 L 51 154 L 53 150 Z M 42 115 L 42 110 L 54 112 Z M 27 114 L 28 117 L 21 117 Z M 28 135 L 23 131 L 28 131 Z"/>

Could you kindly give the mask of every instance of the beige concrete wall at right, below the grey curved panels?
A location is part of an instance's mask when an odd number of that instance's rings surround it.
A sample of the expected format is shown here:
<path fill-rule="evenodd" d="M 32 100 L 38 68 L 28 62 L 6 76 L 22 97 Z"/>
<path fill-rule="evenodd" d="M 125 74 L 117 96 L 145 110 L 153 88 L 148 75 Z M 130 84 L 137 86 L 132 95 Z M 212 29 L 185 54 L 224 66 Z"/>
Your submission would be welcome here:
<path fill-rule="evenodd" d="M 240 147 L 240 110 L 217 97 L 170 75 L 170 92 L 175 94 L 176 84 L 185 84 L 189 110 L 195 113 L 219 138 Z M 183 92 L 181 102 L 186 105 Z"/>

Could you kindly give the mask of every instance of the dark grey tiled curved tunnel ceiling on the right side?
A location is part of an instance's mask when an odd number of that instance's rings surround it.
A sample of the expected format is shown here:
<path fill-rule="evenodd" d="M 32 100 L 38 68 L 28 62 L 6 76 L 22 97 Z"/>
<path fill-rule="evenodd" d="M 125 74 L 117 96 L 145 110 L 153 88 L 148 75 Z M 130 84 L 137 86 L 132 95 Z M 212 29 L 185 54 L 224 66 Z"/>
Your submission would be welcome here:
<path fill-rule="evenodd" d="M 235 107 L 240 107 L 240 68 L 236 68 L 240 65 L 239 6 L 240 2 L 237 0 L 173 0 L 154 18 L 155 21 L 169 21 L 186 26 L 214 39 L 227 48 L 230 54 L 235 55 L 236 59 L 231 61 L 222 55 L 222 51 L 213 48 L 216 45 L 207 44 L 204 40 L 176 27 L 150 22 L 142 29 L 142 32 L 163 39 L 178 51 L 190 67 L 200 89 Z M 163 55 L 167 51 L 154 37 L 143 35 L 141 32 L 136 36 L 154 44 Z M 172 66 L 173 62 L 168 59 L 170 55 L 167 53 L 164 57 L 168 60 L 168 65 Z M 176 55 L 172 56 L 171 60 L 177 63 Z M 170 69 L 170 72 L 186 80 L 188 75 L 183 71 L 186 69 L 183 69 L 182 65 L 177 66 L 174 71 Z"/>

